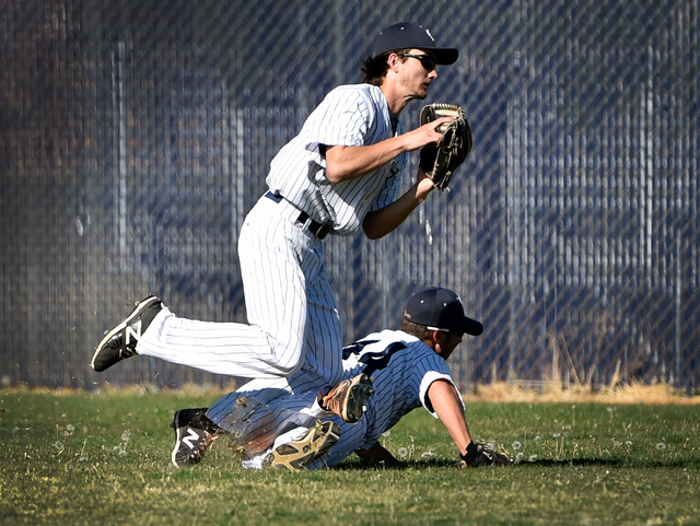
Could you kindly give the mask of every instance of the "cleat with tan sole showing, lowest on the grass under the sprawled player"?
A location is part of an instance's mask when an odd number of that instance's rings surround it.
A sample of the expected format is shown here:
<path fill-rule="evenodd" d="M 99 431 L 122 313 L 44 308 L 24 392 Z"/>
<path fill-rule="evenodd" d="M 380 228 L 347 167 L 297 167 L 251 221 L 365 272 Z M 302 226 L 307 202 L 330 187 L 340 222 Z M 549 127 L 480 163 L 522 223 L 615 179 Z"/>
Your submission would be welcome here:
<path fill-rule="evenodd" d="M 316 458 L 328 452 L 340 440 L 340 428 L 327 421 L 312 428 L 301 439 L 282 444 L 269 453 L 262 460 L 264 468 L 305 469 Z"/>

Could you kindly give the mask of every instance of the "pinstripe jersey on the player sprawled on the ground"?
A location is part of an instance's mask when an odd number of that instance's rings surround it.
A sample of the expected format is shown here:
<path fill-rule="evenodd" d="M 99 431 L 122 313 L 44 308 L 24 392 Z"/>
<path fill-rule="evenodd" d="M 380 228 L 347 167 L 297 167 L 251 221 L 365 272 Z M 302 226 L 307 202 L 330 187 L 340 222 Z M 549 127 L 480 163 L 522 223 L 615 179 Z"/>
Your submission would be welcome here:
<path fill-rule="evenodd" d="M 418 338 L 400 330 L 375 332 L 346 347 L 343 369 L 346 378 L 361 372 L 374 378 L 375 393 L 366 402 L 368 432 L 360 448 L 374 445 L 384 431 L 420 406 L 438 418 L 425 399 L 428 388 L 436 379 L 454 385 L 447 362 Z M 464 410 L 459 389 L 457 394 Z"/>

